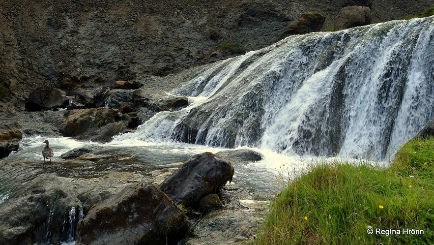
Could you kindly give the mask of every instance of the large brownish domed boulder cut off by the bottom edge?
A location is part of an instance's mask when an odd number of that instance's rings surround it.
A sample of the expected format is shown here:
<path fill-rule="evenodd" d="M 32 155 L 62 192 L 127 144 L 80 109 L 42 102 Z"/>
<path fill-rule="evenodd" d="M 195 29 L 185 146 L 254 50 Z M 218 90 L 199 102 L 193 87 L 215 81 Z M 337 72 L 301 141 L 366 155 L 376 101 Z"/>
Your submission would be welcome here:
<path fill-rule="evenodd" d="M 150 183 L 132 184 L 90 209 L 77 245 L 177 244 L 187 230 L 184 212 L 167 195 Z"/>

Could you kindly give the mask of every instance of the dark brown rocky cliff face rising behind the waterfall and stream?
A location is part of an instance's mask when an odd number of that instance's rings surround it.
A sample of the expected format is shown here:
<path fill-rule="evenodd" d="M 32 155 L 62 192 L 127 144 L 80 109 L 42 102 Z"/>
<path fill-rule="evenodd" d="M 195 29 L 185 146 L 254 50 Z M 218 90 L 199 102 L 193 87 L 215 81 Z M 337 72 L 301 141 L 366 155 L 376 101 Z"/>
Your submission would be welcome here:
<path fill-rule="evenodd" d="M 35 87 L 71 89 L 167 75 L 207 62 L 217 49 L 223 58 L 256 50 L 274 43 L 308 11 L 326 17 L 325 30 L 343 6 L 360 2 L 2 0 L 0 111 L 24 109 Z M 373 22 L 434 5 L 433 0 L 367 2 Z"/>

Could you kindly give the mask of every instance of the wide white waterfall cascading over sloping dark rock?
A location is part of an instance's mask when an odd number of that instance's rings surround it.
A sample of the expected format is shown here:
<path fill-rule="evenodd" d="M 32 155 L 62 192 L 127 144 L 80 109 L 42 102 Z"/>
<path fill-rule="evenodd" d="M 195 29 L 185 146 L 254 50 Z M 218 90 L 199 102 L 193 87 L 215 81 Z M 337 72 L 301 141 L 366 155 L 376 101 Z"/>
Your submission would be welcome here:
<path fill-rule="evenodd" d="M 434 19 L 289 36 L 172 93 L 192 103 L 115 141 L 384 159 L 434 118 Z"/>

